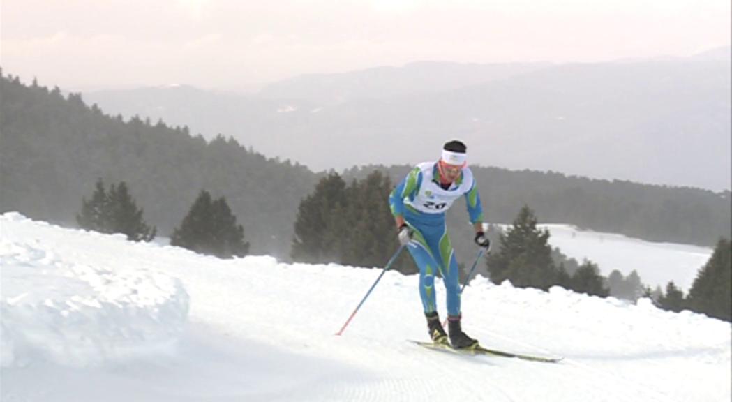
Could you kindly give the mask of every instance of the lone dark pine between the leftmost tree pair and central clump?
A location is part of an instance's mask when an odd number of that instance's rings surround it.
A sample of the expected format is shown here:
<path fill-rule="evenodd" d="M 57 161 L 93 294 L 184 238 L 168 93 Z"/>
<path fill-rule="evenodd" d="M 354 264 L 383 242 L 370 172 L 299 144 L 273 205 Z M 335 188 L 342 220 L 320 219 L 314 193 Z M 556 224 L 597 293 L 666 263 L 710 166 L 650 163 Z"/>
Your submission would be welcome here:
<path fill-rule="evenodd" d="M 244 227 L 236 223 L 225 198 L 212 200 L 206 190 L 201 190 L 181 226 L 173 231 L 171 245 L 220 258 L 249 253 Z"/>

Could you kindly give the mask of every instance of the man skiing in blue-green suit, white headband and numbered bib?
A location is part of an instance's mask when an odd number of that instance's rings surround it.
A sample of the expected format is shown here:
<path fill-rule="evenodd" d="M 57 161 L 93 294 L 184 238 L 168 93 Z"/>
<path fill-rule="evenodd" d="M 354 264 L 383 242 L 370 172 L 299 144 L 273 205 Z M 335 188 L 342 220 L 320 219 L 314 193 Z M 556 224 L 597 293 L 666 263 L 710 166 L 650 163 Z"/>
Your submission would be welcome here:
<path fill-rule="evenodd" d="M 453 201 L 465 196 L 468 215 L 475 229 L 475 242 L 490 249 L 483 232 L 483 212 L 478 187 L 467 167 L 466 146 L 460 141 L 444 144 L 437 162 L 419 163 L 389 196 L 399 242 L 407 247 L 419 267 L 419 295 L 427 317 L 430 338 L 447 344 L 448 335 L 438 317 L 434 282 L 439 271 L 447 289 L 447 332 L 455 349 L 478 346 L 460 326 L 460 272 L 447 235 L 445 212 Z"/>

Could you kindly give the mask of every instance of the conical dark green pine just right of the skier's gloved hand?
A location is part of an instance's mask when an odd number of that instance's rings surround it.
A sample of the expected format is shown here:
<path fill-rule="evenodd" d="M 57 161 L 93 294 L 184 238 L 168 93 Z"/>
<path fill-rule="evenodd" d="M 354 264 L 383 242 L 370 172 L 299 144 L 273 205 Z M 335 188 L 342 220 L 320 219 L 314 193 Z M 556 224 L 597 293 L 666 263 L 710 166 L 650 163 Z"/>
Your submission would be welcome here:
<path fill-rule="evenodd" d="M 537 228 L 537 217 L 523 206 L 506 234 L 501 234 L 496 253 L 488 257 L 488 272 L 493 283 L 510 280 L 517 287 L 549 289 L 558 283 L 559 270 L 548 245 L 549 231 Z"/>

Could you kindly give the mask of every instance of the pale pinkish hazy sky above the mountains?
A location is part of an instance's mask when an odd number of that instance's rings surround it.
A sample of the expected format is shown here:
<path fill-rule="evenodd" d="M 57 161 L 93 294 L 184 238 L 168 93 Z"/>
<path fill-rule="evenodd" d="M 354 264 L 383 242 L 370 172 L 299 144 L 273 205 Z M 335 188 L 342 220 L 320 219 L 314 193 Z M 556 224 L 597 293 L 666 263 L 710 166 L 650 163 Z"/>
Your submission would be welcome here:
<path fill-rule="evenodd" d="M 730 0 L 1 0 L 5 74 L 251 89 L 417 60 L 596 62 L 730 43 Z"/>

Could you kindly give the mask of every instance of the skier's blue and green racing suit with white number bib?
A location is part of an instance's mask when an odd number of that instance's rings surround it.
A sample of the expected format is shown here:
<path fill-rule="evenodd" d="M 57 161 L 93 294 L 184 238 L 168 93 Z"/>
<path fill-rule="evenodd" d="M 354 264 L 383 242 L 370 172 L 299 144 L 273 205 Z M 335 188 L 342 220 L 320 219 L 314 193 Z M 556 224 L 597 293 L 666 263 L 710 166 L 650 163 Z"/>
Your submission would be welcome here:
<path fill-rule="evenodd" d="M 447 289 L 447 314 L 460 316 L 460 272 L 445 223 L 445 212 L 460 196 L 466 198 L 471 223 L 482 222 L 478 188 L 467 167 L 445 190 L 437 163 L 420 163 L 389 196 L 392 215 L 401 215 L 413 231 L 407 250 L 419 267 L 419 295 L 425 313 L 437 310 L 434 283 L 439 271 Z"/>

